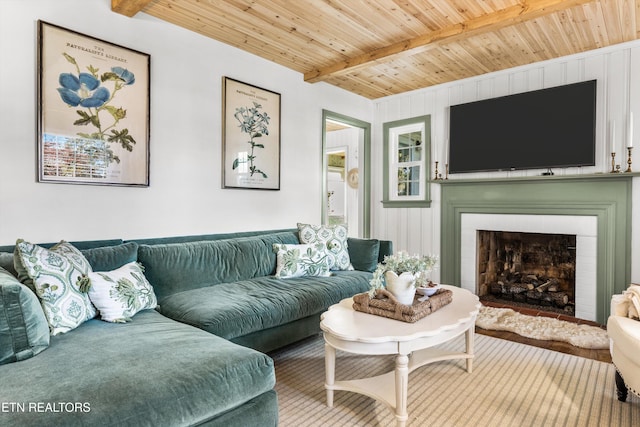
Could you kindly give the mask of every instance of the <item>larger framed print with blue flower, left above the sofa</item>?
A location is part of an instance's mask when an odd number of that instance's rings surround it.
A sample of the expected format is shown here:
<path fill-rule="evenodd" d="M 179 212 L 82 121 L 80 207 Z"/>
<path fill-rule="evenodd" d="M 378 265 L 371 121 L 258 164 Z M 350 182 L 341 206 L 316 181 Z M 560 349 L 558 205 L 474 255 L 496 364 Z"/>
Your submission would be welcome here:
<path fill-rule="evenodd" d="M 150 56 L 38 21 L 38 181 L 149 185 Z"/>

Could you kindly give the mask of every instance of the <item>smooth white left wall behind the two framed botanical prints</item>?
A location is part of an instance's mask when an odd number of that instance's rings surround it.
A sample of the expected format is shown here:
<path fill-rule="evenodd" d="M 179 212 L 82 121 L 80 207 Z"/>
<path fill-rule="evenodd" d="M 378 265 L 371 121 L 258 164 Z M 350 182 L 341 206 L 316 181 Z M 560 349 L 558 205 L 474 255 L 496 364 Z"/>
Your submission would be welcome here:
<path fill-rule="evenodd" d="M 370 100 L 110 0 L 0 0 L 0 245 L 295 227 L 321 215 L 322 109 Z M 38 19 L 151 55 L 150 186 L 36 182 Z M 282 95 L 280 191 L 221 188 L 222 77 Z"/>

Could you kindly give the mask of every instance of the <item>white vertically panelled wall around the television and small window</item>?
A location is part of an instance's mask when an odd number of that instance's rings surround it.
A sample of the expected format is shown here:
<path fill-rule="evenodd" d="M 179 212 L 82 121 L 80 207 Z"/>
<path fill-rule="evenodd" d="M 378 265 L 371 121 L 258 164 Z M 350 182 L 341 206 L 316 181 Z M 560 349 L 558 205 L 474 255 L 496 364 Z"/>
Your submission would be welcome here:
<path fill-rule="evenodd" d="M 382 124 L 425 114 L 431 115 L 432 150 L 440 165 L 446 159 L 449 106 L 496 96 L 597 79 L 596 166 L 554 169 L 558 174 L 607 172 L 609 127 L 616 123 L 616 163 L 626 168 L 627 120 L 635 115 L 635 146 L 640 128 L 640 41 L 612 46 L 584 54 L 535 63 L 448 84 L 380 98 L 374 102 L 372 142 L 372 236 L 391 239 L 396 250 L 411 253 L 440 252 L 440 186 L 431 185 L 433 203 L 428 209 L 383 208 Z M 640 172 L 640 154 L 635 149 L 634 170 Z M 542 170 L 462 174 L 450 177 L 513 177 L 540 175 Z M 378 177 L 378 178 L 375 178 Z M 640 254 L 640 178 L 634 178 L 632 254 Z M 635 256 L 637 258 L 637 255 Z M 632 266 L 632 280 L 640 281 L 640 263 Z"/>

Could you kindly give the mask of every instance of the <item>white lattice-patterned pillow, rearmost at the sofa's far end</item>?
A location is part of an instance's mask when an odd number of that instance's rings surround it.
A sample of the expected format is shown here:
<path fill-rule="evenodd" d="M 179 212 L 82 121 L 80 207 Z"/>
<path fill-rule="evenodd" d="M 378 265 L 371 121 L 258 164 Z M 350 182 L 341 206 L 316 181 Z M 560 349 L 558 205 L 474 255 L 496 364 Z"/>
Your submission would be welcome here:
<path fill-rule="evenodd" d="M 323 247 L 329 255 L 329 269 L 353 270 L 349 259 L 346 225 L 311 225 L 298 223 L 300 243 Z"/>

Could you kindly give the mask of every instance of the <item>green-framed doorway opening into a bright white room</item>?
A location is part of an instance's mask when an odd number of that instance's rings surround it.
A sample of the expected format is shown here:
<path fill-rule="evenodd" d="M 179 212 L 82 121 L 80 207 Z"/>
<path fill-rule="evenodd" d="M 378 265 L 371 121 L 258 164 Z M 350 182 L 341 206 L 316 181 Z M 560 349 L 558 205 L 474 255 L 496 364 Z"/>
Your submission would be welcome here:
<path fill-rule="evenodd" d="M 371 124 L 322 111 L 322 223 L 370 234 Z"/>

